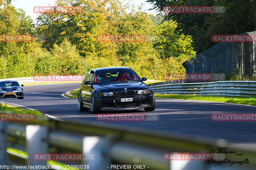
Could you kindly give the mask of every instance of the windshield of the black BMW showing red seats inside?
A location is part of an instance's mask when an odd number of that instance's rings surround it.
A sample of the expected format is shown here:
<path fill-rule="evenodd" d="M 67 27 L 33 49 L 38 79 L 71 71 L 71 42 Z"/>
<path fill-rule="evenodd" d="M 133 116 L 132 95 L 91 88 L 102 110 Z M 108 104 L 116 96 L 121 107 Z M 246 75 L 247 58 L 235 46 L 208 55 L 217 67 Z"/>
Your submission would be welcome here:
<path fill-rule="evenodd" d="M 95 84 L 121 81 L 141 81 L 140 77 L 130 69 L 104 70 L 96 72 Z"/>

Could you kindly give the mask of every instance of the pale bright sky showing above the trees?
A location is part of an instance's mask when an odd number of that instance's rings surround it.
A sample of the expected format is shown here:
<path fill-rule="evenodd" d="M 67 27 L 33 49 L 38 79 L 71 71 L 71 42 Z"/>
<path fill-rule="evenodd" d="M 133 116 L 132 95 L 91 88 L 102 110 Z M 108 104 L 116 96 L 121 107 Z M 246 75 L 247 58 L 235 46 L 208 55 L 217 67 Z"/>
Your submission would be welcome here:
<path fill-rule="evenodd" d="M 15 6 L 15 8 L 21 8 L 26 12 L 26 15 L 31 16 L 34 23 L 36 23 L 37 15 L 33 12 L 34 6 L 53 6 L 55 4 L 56 0 L 12 0 L 12 5 Z M 152 13 L 156 15 L 157 13 L 155 11 L 149 11 L 148 9 L 152 8 L 153 5 L 146 2 L 146 0 L 121 0 L 124 3 L 131 3 L 135 6 L 139 6 L 141 3 L 144 4 L 143 9 L 146 10 L 148 13 Z"/>

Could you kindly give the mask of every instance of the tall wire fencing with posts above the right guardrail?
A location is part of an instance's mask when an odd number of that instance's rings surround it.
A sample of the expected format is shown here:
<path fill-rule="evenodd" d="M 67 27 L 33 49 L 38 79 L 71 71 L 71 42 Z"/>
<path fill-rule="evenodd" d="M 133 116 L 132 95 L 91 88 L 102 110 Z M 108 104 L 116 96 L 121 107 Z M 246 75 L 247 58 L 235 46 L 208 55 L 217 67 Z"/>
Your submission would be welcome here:
<path fill-rule="evenodd" d="M 256 32 L 234 35 L 239 39 L 250 37 L 253 41 L 224 41 L 182 63 L 186 73 L 224 73 L 231 74 L 238 69 L 239 75 L 252 76 L 255 71 Z M 232 37 L 232 38 L 233 38 Z"/>

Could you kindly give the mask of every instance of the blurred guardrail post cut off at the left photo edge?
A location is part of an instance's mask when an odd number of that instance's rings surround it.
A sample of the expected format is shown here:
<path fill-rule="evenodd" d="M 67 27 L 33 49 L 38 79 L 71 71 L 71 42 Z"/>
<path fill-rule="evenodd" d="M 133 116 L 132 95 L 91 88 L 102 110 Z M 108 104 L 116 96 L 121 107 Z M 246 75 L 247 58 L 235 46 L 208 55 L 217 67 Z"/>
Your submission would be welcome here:
<path fill-rule="evenodd" d="M 0 165 L 7 165 L 5 121 L 0 121 Z"/>

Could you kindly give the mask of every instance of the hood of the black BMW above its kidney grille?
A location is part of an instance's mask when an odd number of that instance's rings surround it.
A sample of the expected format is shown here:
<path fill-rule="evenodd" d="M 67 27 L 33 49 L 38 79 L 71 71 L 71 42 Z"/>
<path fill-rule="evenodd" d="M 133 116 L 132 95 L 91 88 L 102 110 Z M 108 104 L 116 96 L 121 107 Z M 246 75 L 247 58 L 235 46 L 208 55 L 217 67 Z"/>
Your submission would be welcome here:
<path fill-rule="evenodd" d="M 94 85 L 94 87 L 100 90 L 101 92 L 122 91 L 124 90 L 124 88 L 127 88 L 127 90 L 148 89 L 147 84 L 138 81 L 102 83 Z"/>

